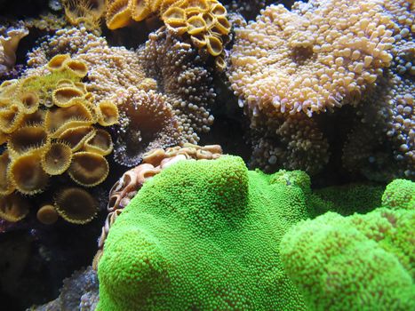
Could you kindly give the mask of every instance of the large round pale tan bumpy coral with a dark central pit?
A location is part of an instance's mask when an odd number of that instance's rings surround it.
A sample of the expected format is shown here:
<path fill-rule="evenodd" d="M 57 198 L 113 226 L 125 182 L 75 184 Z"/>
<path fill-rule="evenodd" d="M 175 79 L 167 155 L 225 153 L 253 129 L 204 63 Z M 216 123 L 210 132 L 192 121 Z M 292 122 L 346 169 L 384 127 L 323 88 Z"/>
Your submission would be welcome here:
<path fill-rule="evenodd" d="M 292 12 L 271 5 L 236 30 L 232 87 L 254 114 L 311 116 L 355 102 L 390 65 L 388 28 L 376 1 L 315 1 Z"/>

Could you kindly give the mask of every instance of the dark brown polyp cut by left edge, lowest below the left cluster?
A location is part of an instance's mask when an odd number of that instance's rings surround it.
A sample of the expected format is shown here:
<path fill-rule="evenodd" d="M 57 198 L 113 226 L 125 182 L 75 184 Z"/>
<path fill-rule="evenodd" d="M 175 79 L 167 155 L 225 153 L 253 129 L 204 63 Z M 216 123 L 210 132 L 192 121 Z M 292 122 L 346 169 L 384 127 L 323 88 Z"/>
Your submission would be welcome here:
<path fill-rule="evenodd" d="M 13 193 L 0 195 L 0 218 L 16 222 L 28 215 L 30 204 L 23 196 Z"/>

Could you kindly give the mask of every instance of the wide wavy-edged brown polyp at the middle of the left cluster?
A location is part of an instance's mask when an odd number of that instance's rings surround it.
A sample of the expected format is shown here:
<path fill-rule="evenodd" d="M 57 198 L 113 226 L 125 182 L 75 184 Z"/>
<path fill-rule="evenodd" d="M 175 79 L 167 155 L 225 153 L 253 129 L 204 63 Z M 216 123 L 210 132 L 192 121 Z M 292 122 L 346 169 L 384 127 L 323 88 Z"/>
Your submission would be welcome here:
<path fill-rule="evenodd" d="M 50 108 L 44 118 L 44 127 L 47 132 L 52 134 L 53 138 L 58 137 L 68 128 L 94 123 L 91 111 L 85 107 L 82 101 L 77 101 L 75 105 L 68 108 Z"/>

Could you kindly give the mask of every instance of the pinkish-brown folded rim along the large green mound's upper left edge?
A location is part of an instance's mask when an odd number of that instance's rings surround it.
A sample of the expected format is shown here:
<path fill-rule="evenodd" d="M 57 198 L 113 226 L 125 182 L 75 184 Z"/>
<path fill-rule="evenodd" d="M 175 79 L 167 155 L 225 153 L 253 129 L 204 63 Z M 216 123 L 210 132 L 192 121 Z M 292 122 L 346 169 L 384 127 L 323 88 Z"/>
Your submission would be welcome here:
<path fill-rule="evenodd" d="M 142 163 L 129 171 L 124 172 L 123 176 L 118 179 L 116 184 L 109 190 L 108 216 L 102 227 L 100 239 L 98 241 L 97 254 L 95 255 L 92 267 L 96 269 L 102 256 L 105 239 L 107 238 L 109 228 L 124 207 L 137 194 L 144 182 L 163 171 L 173 163 L 195 160 L 212 160 L 222 155 L 222 148 L 219 145 L 197 146 L 185 143 L 183 146 L 172 148 L 156 148 L 148 151 L 142 156 Z"/>

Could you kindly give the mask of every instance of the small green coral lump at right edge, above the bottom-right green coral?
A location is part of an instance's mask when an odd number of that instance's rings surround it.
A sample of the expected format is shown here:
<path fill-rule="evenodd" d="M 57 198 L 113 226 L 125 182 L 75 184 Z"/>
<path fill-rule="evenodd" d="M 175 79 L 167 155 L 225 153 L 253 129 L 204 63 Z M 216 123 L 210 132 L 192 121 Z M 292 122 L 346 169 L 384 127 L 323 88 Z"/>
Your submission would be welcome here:
<path fill-rule="evenodd" d="M 395 179 L 382 195 L 382 205 L 390 209 L 415 209 L 415 182 L 406 179 Z"/>

